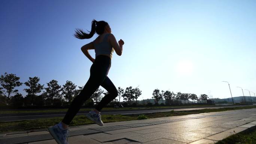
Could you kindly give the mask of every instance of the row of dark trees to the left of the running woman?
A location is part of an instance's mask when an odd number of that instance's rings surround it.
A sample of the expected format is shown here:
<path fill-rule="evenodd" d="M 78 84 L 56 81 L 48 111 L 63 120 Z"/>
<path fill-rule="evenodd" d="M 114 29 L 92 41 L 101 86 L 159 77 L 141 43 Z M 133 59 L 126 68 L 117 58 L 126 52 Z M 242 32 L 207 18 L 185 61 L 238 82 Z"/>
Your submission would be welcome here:
<path fill-rule="evenodd" d="M 19 94 L 18 90 L 15 89 L 18 86 L 21 86 L 23 83 L 19 82 L 19 77 L 17 77 L 15 74 L 7 74 L 4 73 L 4 75 L 1 75 L 0 77 L 0 95 L 1 95 L 1 101 L 4 101 L 6 105 L 9 104 L 10 98 L 12 95 L 15 97 L 13 98 L 19 98 L 22 96 Z M 30 104 L 33 105 L 33 102 L 37 96 L 41 96 L 44 99 L 48 99 L 51 101 L 51 104 L 53 104 L 54 99 L 60 99 L 61 102 L 67 101 L 68 104 L 71 103 L 72 99 L 82 91 L 83 87 L 78 86 L 79 89 L 76 89 L 76 85 L 74 85 L 71 81 L 66 81 L 65 85 L 61 87 L 61 85 L 58 84 L 57 80 L 51 80 L 47 84 L 47 87 L 44 88 L 44 85 L 41 85 L 39 83 L 40 78 L 39 77 L 29 77 L 29 80 L 27 82 L 24 82 L 25 86 L 28 88 L 24 89 L 25 92 L 27 92 L 27 96 L 30 97 Z"/>

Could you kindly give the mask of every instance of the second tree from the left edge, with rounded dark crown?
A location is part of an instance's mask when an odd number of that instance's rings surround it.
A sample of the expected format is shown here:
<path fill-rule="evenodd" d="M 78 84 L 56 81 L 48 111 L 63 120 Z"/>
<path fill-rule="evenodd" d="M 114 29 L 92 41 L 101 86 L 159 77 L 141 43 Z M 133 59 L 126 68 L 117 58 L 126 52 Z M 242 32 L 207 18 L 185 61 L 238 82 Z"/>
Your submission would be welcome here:
<path fill-rule="evenodd" d="M 29 80 L 24 83 L 26 86 L 29 87 L 28 89 L 24 89 L 24 91 L 31 95 L 31 105 L 33 105 L 34 97 L 36 96 L 36 94 L 40 93 L 44 86 L 38 83 L 39 80 L 40 78 L 38 77 L 29 77 Z"/>

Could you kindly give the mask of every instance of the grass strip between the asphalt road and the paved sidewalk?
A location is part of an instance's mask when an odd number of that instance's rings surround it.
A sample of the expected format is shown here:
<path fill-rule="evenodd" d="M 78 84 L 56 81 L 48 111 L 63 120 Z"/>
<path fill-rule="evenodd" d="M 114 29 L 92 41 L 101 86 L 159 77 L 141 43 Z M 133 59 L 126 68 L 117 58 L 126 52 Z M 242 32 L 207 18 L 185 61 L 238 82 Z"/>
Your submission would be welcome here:
<path fill-rule="evenodd" d="M 147 117 L 147 119 L 152 119 L 152 118 L 159 118 L 159 117 L 184 116 L 188 114 L 210 113 L 210 112 L 227 111 L 227 110 L 240 110 L 240 109 L 247 109 L 247 108 L 256 108 L 256 106 L 189 110 L 189 111 L 168 111 L 168 112 L 160 112 L 160 113 L 153 113 L 153 114 L 144 114 L 144 116 Z M 104 123 L 108 123 L 108 122 L 137 120 L 138 116 L 102 115 L 101 119 Z M 62 120 L 62 117 L 36 119 L 36 120 L 21 120 L 21 121 L 14 121 L 14 122 L 0 122 L 0 132 L 45 129 L 45 128 L 48 128 L 49 126 L 53 126 L 59 123 L 61 120 Z M 85 116 L 75 116 L 70 126 L 88 125 L 88 124 L 92 124 L 92 122 L 86 119 Z"/>

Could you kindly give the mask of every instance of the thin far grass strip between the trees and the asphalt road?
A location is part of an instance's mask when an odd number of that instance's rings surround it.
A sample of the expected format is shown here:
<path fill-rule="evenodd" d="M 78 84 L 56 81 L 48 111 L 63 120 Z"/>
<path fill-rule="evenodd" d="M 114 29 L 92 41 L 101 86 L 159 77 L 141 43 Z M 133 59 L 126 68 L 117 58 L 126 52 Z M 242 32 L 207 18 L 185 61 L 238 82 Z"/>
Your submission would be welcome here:
<path fill-rule="evenodd" d="M 124 107 L 124 108 L 103 108 L 102 110 L 139 110 L 150 108 L 172 108 L 172 107 L 213 107 L 214 105 L 181 105 L 181 106 L 155 106 L 155 107 Z M 221 105 L 220 105 L 221 106 Z M 81 108 L 80 111 L 90 111 L 91 108 Z M 49 110 L 0 110 L 0 114 L 4 113 L 48 113 L 48 112 L 61 112 L 67 111 L 67 108 L 49 109 Z"/>

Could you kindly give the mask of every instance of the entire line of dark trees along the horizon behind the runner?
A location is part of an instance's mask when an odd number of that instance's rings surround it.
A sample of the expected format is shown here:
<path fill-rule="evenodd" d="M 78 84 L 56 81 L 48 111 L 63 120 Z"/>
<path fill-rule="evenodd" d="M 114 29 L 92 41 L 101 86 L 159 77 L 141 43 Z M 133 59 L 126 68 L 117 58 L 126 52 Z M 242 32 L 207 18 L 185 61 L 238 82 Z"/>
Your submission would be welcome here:
<path fill-rule="evenodd" d="M 66 81 L 65 85 L 61 86 L 58 84 L 57 80 L 51 80 L 46 83 L 47 86 L 41 85 L 39 83 L 39 77 L 29 77 L 27 82 L 21 83 L 19 82 L 19 77 L 15 74 L 7 74 L 1 75 L 0 77 L 0 104 L 1 105 L 69 105 L 71 101 L 77 96 L 83 89 L 83 87 L 77 86 L 71 82 Z M 27 86 L 24 89 L 27 92 L 27 95 L 23 97 L 16 87 L 21 85 Z M 94 94 L 91 96 L 91 99 L 88 99 L 85 102 L 86 104 L 93 105 L 98 104 L 99 101 L 103 98 L 104 95 L 108 94 L 107 91 L 101 90 L 98 88 Z M 137 100 L 141 95 L 141 90 L 136 87 L 132 88 L 129 86 L 125 89 L 118 87 L 118 97 L 114 99 L 112 102 L 119 102 L 120 99 L 123 98 L 127 101 L 127 105 L 137 105 Z M 161 91 L 159 89 L 155 89 L 152 93 L 152 98 L 155 99 L 155 104 L 158 105 L 159 101 L 162 104 L 170 105 L 175 103 L 182 103 L 182 100 L 189 102 L 189 99 L 195 103 L 195 101 L 205 101 L 208 96 L 205 94 L 201 94 L 199 97 L 195 94 L 189 93 L 181 93 L 181 92 L 171 92 L 171 91 Z M 165 100 L 164 100 L 165 99 Z M 150 103 L 147 101 L 147 103 Z"/>

